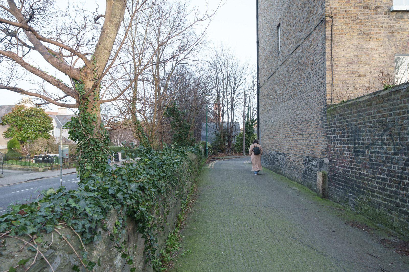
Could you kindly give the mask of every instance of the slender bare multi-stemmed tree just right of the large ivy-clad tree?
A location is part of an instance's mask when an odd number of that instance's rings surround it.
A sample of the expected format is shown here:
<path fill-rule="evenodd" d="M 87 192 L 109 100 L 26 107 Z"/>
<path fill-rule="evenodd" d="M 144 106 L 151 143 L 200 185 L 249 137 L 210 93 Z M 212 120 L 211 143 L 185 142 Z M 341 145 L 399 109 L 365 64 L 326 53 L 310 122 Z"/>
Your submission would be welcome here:
<path fill-rule="evenodd" d="M 162 146 L 169 130 L 164 113 L 177 91 L 170 83 L 178 67 L 196 62 L 194 56 L 205 43 L 205 31 L 215 12 L 201 14 L 186 3 L 162 2 L 145 9 L 144 20 L 135 18 L 133 35 L 128 35 L 120 55 L 125 73 L 112 82 L 125 91 L 117 100 L 118 112 L 132 121 L 134 136 L 141 144 Z M 198 31 L 203 22 L 205 27 Z"/>

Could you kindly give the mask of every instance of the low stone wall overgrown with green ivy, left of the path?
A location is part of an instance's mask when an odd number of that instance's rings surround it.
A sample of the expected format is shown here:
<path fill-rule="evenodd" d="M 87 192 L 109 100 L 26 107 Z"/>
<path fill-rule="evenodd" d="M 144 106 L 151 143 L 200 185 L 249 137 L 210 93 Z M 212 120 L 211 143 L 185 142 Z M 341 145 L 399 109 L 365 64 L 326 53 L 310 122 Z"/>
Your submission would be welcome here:
<path fill-rule="evenodd" d="M 160 270 L 159 252 L 203 157 L 199 148 L 146 152 L 81 190 L 49 190 L 43 202 L 12 207 L 0 217 L 0 271 Z"/>

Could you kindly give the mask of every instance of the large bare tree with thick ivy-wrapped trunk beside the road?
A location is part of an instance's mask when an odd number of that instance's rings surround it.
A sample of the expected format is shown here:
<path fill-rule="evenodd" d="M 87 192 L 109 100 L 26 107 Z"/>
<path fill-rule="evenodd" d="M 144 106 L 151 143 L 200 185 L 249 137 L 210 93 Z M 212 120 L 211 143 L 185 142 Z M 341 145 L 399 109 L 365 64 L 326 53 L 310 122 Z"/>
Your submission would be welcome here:
<path fill-rule="evenodd" d="M 136 75 L 163 62 L 161 46 L 166 44 L 166 39 L 157 40 L 156 46 L 140 48 L 128 59 L 123 53 L 128 37 L 141 34 L 132 32 L 137 23 L 154 24 L 160 19 L 149 17 L 151 14 L 146 11 L 164 2 L 166 0 L 107 0 L 104 14 L 70 5 L 59 10 L 54 0 L 0 3 L 3 33 L 0 89 L 36 97 L 38 104 L 78 108 L 69 127 L 71 139 L 78 143 L 81 179 L 90 173 L 105 171 L 108 137 L 101 122 L 100 106 L 118 100 L 138 80 L 133 73 L 126 84 L 118 84 L 125 74 L 123 67 L 126 63 L 137 64 L 134 60 L 139 60 L 146 50 L 150 54 L 144 55 L 147 57 Z M 174 38 L 180 33 L 176 31 L 168 37 Z M 155 44 L 155 40 L 151 41 Z"/>

